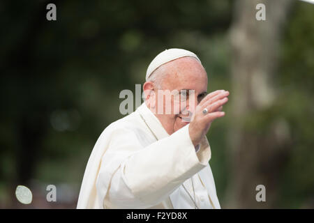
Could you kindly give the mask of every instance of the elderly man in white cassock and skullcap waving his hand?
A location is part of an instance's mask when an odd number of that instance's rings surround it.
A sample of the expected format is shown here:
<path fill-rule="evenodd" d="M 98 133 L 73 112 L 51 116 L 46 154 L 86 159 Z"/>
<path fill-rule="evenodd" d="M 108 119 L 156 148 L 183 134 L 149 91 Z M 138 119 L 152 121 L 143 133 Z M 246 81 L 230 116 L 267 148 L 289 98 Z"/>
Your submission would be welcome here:
<path fill-rule="evenodd" d="M 207 95 L 207 73 L 185 49 L 158 54 L 146 80 L 145 102 L 96 142 L 77 208 L 220 208 L 206 134 L 229 92 Z"/>

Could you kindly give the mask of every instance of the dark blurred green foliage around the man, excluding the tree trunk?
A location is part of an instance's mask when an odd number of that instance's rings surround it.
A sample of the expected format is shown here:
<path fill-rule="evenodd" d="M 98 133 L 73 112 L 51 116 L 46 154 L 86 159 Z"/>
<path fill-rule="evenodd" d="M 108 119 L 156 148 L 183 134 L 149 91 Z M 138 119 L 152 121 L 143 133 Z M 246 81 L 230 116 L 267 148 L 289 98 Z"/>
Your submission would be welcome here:
<path fill-rule="evenodd" d="M 209 91 L 232 86 L 232 1 L 58 1 L 55 22 L 45 20 L 45 4 L 0 3 L 0 199 L 1 188 L 30 179 L 80 185 L 98 136 L 122 117 L 120 91 L 134 92 L 164 49 L 200 56 Z M 313 16 L 312 5 L 294 4 L 274 77 L 279 103 L 246 122 L 260 131 L 278 117 L 288 123 L 293 149 L 278 199 L 287 208 L 302 207 L 314 194 Z M 213 123 L 208 134 L 221 200 L 230 178 L 230 121 Z"/>

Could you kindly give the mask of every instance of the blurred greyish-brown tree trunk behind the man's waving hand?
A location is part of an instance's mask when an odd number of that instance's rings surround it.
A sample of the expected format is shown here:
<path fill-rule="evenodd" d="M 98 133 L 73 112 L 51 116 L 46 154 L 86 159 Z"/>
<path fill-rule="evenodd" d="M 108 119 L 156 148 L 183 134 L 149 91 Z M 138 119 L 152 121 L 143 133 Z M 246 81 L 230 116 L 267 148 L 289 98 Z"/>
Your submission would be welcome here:
<path fill-rule="evenodd" d="M 257 3 L 264 3 L 266 20 L 257 21 Z M 230 28 L 232 47 L 231 180 L 225 208 L 271 208 L 276 179 L 287 151 L 288 129 L 281 118 L 265 118 L 276 105 L 271 79 L 277 49 L 291 1 L 235 1 Z M 264 122 L 266 121 L 266 123 Z M 257 202 L 257 185 L 266 187 L 266 202 Z"/>

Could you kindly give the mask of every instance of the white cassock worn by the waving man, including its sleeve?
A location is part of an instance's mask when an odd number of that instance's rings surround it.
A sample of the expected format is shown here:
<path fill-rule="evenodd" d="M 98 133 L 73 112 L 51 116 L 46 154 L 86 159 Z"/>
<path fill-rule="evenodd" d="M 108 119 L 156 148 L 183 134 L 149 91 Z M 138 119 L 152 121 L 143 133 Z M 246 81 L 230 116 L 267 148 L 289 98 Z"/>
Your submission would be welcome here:
<path fill-rule="evenodd" d="M 188 126 L 167 134 L 145 103 L 109 125 L 89 157 L 77 208 L 220 208 L 209 143 L 204 137 L 196 152 Z"/>

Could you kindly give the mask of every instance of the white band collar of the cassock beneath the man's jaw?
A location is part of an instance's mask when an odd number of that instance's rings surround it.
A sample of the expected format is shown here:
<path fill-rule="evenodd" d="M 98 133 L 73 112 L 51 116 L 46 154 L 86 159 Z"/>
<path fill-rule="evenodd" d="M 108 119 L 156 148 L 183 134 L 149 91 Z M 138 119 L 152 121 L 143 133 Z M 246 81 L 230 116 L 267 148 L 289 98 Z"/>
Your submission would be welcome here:
<path fill-rule="evenodd" d="M 169 134 L 165 128 L 163 128 L 163 125 L 160 123 L 159 119 L 153 112 L 151 112 L 145 102 L 142 103 L 142 105 L 140 105 L 136 111 L 142 115 L 147 125 L 149 125 L 149 128 L 151 128 L 151 131 L 154 132 L 158 140 L 169 137 Z"/>

